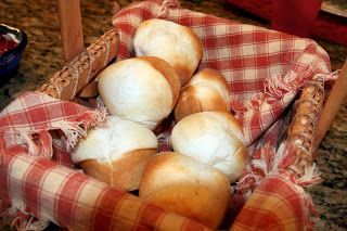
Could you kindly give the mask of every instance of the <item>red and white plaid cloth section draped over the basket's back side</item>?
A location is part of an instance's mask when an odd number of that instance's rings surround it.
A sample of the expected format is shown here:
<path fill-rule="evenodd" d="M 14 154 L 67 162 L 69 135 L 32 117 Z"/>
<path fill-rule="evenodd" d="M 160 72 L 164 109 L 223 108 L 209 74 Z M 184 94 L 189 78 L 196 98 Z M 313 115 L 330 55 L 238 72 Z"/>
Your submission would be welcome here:
<path fill-rule="evenodd" d="M 182 9 L 176 0 L 152 0 L 123 10 L 115 7 L 113 25 L 120 38 L 118 61 L 134 56 L 132 38 L 137 27 L 154 17 L 192 28 L 204 49 L 197 70 L 215 68 L 228 81 L 230 104 L 242 125 L 250 159 L 234 187 L 233 206 L 237 213 L 267 175 L 281 170 L 273 159 L 290 118 L 286 108 L 309 80 L 331 73 L 329 55 L 310 39 Z M 166 136 L 169 132 L 162 139 L 169 142 Z M 272 189 L 277 183 L 267 185 Z M 290 201 L 293 194 L 281 196 Z M 297 194 L 296 198 L 303 197 Z M 307 222 L 309 217 L 306 213 Z M 296 218 L 294 214 L 294 222 Z"/>

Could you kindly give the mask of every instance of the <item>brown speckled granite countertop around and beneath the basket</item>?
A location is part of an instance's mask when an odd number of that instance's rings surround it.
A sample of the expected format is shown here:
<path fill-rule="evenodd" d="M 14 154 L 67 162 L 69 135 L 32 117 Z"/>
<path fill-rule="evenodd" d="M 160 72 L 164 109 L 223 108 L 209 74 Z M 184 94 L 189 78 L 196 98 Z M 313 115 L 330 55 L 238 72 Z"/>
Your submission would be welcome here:
<path fill-rule="evenodd" d="M 121 7 L 131 0 L 118 1 Z M 269 23 L 223 0 L 180 1 L 181 7 L 231 18 L 246 24 L 269 27 Z M 86 47 L 111 27 L 112 1 L 81 1 Z M 15 76 L 0 84 L 0 110 L 28 90 L 36 90 L 63 65 L 56 2 L 44 0 L 0 1 L 0 23 L 26 31 L 28 46 Z M 4 10 L 3 10 L 4 9 Z M 340 68 L 347 57 L 347 47 L 313 38 L 331 56 L 332 68 Z M 318 150 L 317 165 L 323 183 L 308 189 L 321 211 L 320 227 L 345 230 L 347 227 L 347 101 L 334 119 Z"/>

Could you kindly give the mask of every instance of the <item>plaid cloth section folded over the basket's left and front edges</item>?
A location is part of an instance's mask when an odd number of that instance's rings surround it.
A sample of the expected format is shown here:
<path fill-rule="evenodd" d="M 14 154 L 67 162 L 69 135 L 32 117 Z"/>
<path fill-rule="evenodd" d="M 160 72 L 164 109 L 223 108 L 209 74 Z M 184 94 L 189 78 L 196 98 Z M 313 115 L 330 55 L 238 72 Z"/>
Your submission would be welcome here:
<path fill-rule="evenodd" d="M 54 156 L 66 154 L 103 117 L 103 112 L 42 93 L 11 103 L 0 114 L 1 217 L 12 216 L 18 230 L 40 230 L 47 221 L 69 230 L 207 230 L 56 163 Z M 59 149 L 52 147 L 53 131 L 65 137 Z"/>

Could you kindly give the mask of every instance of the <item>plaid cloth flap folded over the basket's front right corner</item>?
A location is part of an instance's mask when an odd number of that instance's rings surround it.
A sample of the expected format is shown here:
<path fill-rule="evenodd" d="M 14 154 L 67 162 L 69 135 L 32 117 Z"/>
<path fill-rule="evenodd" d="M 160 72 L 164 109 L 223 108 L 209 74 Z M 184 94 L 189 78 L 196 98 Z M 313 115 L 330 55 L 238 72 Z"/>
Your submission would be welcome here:
<path fill-rule="evenodd" d="M 230 230 L 313 230 L 316 216 L 311 198 L 295 178 L 279 172 L 262 180 Z"/>

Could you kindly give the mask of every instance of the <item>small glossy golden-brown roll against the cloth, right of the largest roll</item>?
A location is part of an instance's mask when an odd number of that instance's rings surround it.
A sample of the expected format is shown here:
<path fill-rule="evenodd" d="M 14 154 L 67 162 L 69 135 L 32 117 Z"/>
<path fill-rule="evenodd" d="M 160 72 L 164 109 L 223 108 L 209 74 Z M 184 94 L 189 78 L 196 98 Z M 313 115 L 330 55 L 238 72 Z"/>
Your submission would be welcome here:
<path fill-rule="evenodd" d="M 230 112 L 229 90 L 226 78 L 217 70 L 205 68 L 193 76 L 181 89 L 175 108 L 175 118 L 198 112 Z"/>

